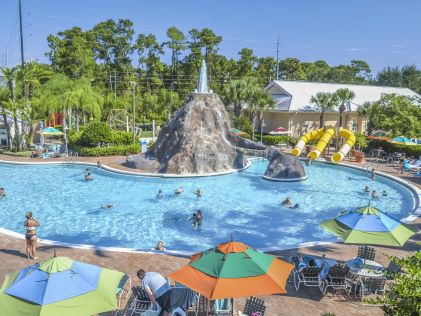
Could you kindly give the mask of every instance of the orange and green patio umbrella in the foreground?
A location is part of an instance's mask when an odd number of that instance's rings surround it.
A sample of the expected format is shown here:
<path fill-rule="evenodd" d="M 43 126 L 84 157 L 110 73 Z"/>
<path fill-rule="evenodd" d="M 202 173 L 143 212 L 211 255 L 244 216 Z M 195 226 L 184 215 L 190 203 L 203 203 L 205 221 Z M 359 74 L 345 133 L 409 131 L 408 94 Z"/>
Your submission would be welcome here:
<path fill-rule="evenodd" d="M 170 278 L 210 300 L 286 293 L 293 265 L 241 242 L 198 253 Z"/>

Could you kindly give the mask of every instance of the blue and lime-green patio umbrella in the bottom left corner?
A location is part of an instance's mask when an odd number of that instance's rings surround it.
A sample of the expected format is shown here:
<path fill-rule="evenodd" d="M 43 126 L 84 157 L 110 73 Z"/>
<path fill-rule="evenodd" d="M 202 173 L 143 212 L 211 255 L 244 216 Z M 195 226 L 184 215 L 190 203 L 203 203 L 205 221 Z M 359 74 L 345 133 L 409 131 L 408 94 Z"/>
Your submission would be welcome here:
<path fill-rule="evenodd" d="M 6 276 L 0 288 L 2 315 L 79 316 L 117 309 L 123 273 L 54 257 Z"/>

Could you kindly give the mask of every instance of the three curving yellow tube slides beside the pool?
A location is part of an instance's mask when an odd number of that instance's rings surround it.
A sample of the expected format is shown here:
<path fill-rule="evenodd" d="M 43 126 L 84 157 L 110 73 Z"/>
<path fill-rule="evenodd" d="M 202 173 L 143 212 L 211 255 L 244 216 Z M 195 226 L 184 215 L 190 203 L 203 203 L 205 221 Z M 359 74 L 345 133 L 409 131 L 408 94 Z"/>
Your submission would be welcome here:
<path fill-rule="evenodd" d="M 292 149 L 291 154 L 295 156 L 299 156 L 304 148 L 304 146 L 313 139 L 320 139 L 317 143 L 314 150 L 312 150 L 308 157 L 312 160 L 315 160 L 320 157 L 323 150 L 326 148 L 326 146 L 329 144 L 330 139 L 335 135 L 335 131 L 333 128 L 320 128 L 318 130 L 309 132 L 307 134 L 304 134 L 300 137 L 299 141 L 295 145 L 295 147 Z M 355 135 L 349 130 L 341 128 L 339 131 L 339 136 L 345 138 L 345 143 L 341 146 L 338 152 L 336 152 L 331 160 L 332 162 L 340 162 L 346 154 L 349 152 L 349 150 L 354 146 L 355 144 Z"/>

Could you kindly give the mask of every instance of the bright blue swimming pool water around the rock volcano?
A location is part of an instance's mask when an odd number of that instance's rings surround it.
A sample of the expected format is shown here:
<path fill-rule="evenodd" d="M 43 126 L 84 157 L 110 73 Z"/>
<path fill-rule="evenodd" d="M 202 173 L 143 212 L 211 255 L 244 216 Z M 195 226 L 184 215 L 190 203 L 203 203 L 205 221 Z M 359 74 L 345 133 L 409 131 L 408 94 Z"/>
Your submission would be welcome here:
<path fill-rule="evenodd" d="M 85 166 L 17 166 L 0 164 L 0 226 L 24 233 L 25 211 L 41 222 L 41 238 L 63 242 L 150 249 L 163 240 L 169 250 L 196 251 L 235 240 L 257 248 L 286 247 L 310 241 L 332 240 L 318 224 L 340 211 L 367 205 L 365 185 L 380 197 L 375 207 L 403 218 L 414 208 L 406 187 L 383 177 L 371 181 L 359 170 L 314 163 L 305 167 L 308 180 L 270 182 L 261 179 L 266 161 L 247 170 L 205 178 L 142 178 L 91 168 L 94 181 L 85 182 Z M 173 195 L 178 186 L 185 193 Z M 192 192 L 200 188 L 204 196 Z M 166 194 L 156 199 L 158 189 Z M 381 192 L 387 190 L 388 197 Z M 280 201 L 290 196 L 299 209 Z M 115 204 L 100 209 L 102 204 Z M 189 219 L 201 209 L 200 229 Z"/>

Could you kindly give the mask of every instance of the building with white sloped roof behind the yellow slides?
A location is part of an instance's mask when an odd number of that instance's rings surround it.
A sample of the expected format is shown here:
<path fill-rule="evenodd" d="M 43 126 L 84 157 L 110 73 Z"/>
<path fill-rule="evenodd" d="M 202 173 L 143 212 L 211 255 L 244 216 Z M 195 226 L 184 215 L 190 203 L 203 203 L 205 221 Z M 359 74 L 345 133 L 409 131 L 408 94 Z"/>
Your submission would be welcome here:
<path fill-rule="evenodd" d="M 355 98 L 346 105 L 342 126 L 356 133 L 366 130 L 365 119 L 357 113 L 358 107 L 365 102 L 378 101 L 382 94 L 391 93 L 420 97 L 408 88 L 274 80 L 265 88 L 275 100 L 275 108 L 263 114 L 263 131 L 267 133 L 282 126 L 292 135 L 302 135 L 319 128 L 320 112 L 310 103 L 311 97 L 318 92 L 333 93 L 343 88 L 353 91 Z M 326 126 L 337 126 L 338 121 L 338 109 L 325 113 Z"/>

